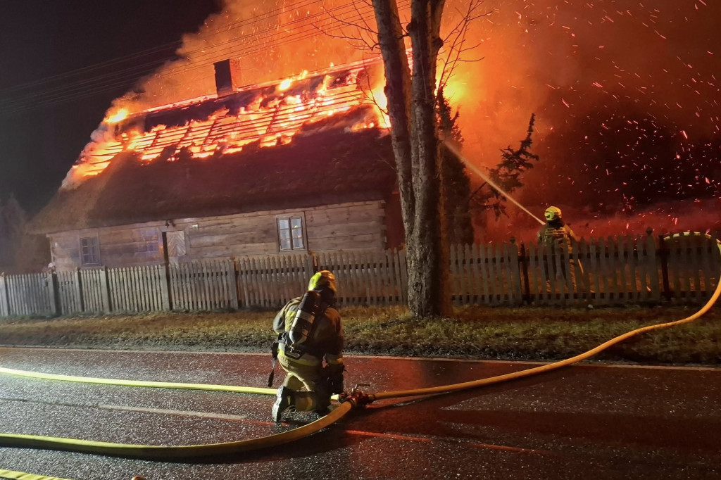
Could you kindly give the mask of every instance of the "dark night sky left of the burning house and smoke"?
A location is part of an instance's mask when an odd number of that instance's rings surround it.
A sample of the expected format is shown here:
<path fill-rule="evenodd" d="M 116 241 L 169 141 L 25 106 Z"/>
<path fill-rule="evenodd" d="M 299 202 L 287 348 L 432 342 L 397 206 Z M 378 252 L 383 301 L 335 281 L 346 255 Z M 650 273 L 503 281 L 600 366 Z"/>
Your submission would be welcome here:
<path fill-rule="evenodd" d="M 7 2 L 9 3 L 9 2 Z M 138 58 L 76 72 L 159 48 L 143 63 L 172 58 L 181 35 L 194 32 L 216 0 L 23 0 L 0 16 L 0 200 L 10 193 L 36 211 L 60 186 L 112 99 L 135 79 L 99 86 L 93 78 L 137 65 Z M 151 68 L 151 67 L 149 67 Z M 56 81 L 43 81 L 63 76 Z M 86 83 L 82 83 L 85 81 Z M 58 92 L 58 85 L 73 86 Z"/>

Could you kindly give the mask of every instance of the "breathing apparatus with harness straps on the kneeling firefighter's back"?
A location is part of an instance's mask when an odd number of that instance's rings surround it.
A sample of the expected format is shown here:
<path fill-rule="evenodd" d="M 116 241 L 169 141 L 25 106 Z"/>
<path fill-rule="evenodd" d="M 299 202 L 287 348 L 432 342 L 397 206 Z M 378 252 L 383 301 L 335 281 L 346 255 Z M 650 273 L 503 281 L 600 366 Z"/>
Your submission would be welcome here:
<path fill-rule="evenodd" d="M 293 303 L 295 303 L 295 300 L 290 301 L 273 321 L 273 330 L 278 333 L 278 338 L 273 341 L 273 345 L 270 347 L 273 368 L 270 370 L 270 375 L 268 375 L 268 387 L 273 386 L 275 364 L 278 363 L 280 344 L 283 344 L 283 355 L 296 360 L 304 353 L 314 357 L 322 357 L 324 354 L 314 345 L 308 345 L 306 340 L 313 334 L 315 319 L 322 316 L 331 303 L 326 301 L 322 291 L 308 290 L 298 302 L 298 309 L 293 317 L 290 329 L 286 330 L 286 308 L 293 306 Z"/>

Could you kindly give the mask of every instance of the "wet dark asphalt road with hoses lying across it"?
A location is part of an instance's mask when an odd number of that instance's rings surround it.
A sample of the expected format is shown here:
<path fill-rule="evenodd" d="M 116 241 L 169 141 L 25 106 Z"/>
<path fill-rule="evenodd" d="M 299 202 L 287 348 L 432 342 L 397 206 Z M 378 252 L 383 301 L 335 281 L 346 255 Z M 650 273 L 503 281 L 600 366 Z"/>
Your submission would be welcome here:
<path fill-rule="evenodd" d="M 347 364 L 346 386 L 368 383 L 369 392 L 535 366 L 377 357 L 349 357 Z M 270 359 L 0 348 L 0 366 L 262 387 Z M 270 435 L 317 418 L 297 413 L 275 425 L 273 400 L 0 375 L 0 431 L 190 445 Z M 279 451 L 168 463 L 0 448 L 0 469 L 75 480 L 721 479 L 720 432 L 721 369 L 584 365 L 457 394 L 378 401 Z"/>

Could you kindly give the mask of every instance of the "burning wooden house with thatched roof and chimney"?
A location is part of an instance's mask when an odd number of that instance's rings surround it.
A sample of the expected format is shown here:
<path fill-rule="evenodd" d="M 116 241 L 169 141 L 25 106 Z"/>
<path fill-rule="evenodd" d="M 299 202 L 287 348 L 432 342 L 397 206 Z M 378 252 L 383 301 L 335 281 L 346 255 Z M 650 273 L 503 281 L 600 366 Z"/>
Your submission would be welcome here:
<path fill-rule="evenodd" d="M 94 132 L 33 220 L 58 270 L 402 244 L 378 64 L 242 88 L 235 67 Z"/>

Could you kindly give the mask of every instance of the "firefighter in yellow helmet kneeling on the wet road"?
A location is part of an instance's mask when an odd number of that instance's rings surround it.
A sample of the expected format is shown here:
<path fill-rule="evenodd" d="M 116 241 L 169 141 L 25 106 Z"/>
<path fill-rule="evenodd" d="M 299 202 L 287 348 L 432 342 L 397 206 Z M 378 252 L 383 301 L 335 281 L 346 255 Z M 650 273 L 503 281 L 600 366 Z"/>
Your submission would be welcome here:
<path fill-rule="evenodd" d="M 343 329 L 333 308 L 336 290 L 335 276 L 322 270 L 311 277 L 308 291 L 286 303 L 273 320 L 278 334 L 273 366 L 277 357 L 286 370 L 273 404 L 275 422 L 286 410 L 325 413 L 330 396 L 343 391 Z M 271 372 L 268 386 L 272 384 Z M 306 391 L 301 391 L 304 387 Z"/>

